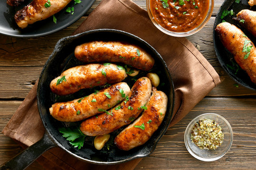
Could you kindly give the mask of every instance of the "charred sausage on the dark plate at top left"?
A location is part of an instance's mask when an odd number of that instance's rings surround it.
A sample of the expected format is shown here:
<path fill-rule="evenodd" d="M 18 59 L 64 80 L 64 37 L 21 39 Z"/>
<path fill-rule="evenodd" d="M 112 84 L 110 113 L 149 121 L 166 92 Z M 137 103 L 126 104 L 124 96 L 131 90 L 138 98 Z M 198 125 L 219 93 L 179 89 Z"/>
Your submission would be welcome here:
<path fill-rule="evenodd" d="M 50 7 L 45 7 L 48 0 L 33 0 L 26 7 L 16 12 L 14 19 L 20 28 L 44 20 L 65 8 L 71 0 L 50 0 Z"/>

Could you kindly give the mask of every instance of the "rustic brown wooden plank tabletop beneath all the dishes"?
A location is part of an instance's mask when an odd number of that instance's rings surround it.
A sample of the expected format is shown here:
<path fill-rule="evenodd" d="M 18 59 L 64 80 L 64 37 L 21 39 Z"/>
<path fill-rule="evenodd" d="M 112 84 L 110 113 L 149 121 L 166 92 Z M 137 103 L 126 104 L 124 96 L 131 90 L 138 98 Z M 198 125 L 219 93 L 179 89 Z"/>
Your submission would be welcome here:
<path fill-rule="evenodd" d="M 38 38 L 13 38 L 0 35 L 0 131 L 24 100 L 38 79 L 41 70 L 53 51 L 56 42 L 72 34 L 92 8 L 76 23 L 57 33 Z M 146 0 L 133 0 L 146 9 Z M 208 24 L 188 39 L 199 49 L 218 72 L 222 83 L 214 88 L 178 124 L 168 129 L 155 151 L 136 167 L 136 170 L 169 169 L 239 169 L 256 167 L 256 91 L 243 86 L 236 87 L 227 73 L 220 67 L 213 47 L 213 23 L 223 0 L 215 0 L 212 17 Z M 213 162 L 203 162 L 192 157 L 184 144 L 184 131 L 191 119 L 202 113 L 217 113 L 231 124 L 234 140 L 229 152 Z M 0 134 L 0 164 L 22 151 L 12 139 Z M 27 170 L 43 170 L 37 161 Z"/>

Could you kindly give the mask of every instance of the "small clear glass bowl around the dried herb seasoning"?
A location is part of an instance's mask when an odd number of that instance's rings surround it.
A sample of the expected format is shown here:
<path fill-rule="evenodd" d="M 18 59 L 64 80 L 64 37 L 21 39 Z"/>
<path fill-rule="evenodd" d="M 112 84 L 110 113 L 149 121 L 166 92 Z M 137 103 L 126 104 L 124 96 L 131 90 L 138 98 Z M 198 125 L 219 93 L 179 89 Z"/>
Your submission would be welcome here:
<path fill-rule="evenodd" d="M 195 125 L 195 123 L 199 122 L 200 119 L 215 120 L 215 122 L 218 123 L 219 126 L 222 128 L 222 132 L 224 133 L 223 143 L 215 150 L 200 149 L 196 144 L 192 143 L 191 141 L 190 136 L 192 127 Z M 222 116 L 215 113 L 205 113 L 199 115 L 189 123 L 185 131 L 184 141 L 187 150 L 195 158 L 201 161 L 216 161 L 224 156 L 230 149 L 233 142 L 233 131 L 228 121 Z"/>

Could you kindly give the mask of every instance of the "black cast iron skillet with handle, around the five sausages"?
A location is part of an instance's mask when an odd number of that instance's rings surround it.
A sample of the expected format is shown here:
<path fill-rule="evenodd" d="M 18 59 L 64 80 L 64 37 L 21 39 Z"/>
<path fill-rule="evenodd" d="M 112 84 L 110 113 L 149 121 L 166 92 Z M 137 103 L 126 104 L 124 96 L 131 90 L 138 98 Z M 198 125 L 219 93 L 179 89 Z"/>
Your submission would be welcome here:
<path fill-rule="evenodd" d="M 139 45 L 154 57 L 156 61 L 155 66 L 158 67 L 157 71 L 161 71 L 161 73 L 159 72 L 159 75 L 161 83 L 164 83 L 164 85 L 159 87 L 158 90 L 165 92 L 168 96 L 168 106 L 165 118 L 159 129 L 153 134 L 147 143 L 130 151 L 121 151 L 114 146 L 108 153 L 101 153 L 101 151 L 97 151 L 94 146 L 89 144 L 84 144 L 84 146 L 78 150 L 71 146 L 58 131 L 58 128 L 63 127 L 64 124 L 53 119 L 49 113 L 51 104 L 55 102 L 55 98 L 53 97 L 54 95 L 51 93 L 49 88 L 51 80 L 60 75 L 63 70 L 80 64 L 74 57 L 74 49 L 76 45 L 94 40 L 123 41 Z M 0 168 L 1 170 L 6 170 L 7 168 L 24 169 L 43 152 L 56 146 L 61 147 L 67 153 L 70 153 L 80 160 L 94 164 L 117 164 L 130 161 L 135 158 L 148 156 L 153 152 L 157 142 L 160 140 L 161 136 L 163 136 L 171 122 L 174 106 L 174 87 L 166 63 L 161 58 L 161 55 L 147 42 L 133 34 L 123 31 L 98 29 L 77 34 L 75 36 L 65 37 L 57 42 L 53 53 L 47 60 L 39 77 L 37 98 L 39 114 L 46 128 L 45 135 L 40 141 L 38 141 L 38 143 L 30 146 L 14 160 L 2 165 Z"/>

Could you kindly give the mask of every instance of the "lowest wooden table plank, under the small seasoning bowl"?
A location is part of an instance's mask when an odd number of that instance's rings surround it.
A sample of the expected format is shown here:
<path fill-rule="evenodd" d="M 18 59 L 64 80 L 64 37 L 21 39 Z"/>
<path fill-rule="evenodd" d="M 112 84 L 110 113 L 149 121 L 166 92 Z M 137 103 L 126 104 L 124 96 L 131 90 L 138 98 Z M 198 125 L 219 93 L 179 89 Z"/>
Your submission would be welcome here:
<path fill-rule="evenodd" d="M 17 110 L 21 101 L 0 101 L 0 131 Z M 190 111 L 175 126 L 169 128 L 161 138 L 155 151 L 144 158 L 136 170 L 207 169 L 228 168 L 253 169 L 256 166 L 256 98 L 207 97 Z M 220 160 L 202 162 L 186 150 L 184 131 L 196 116 L 213 112 L 224 116 L 232 126 L 234 141 L 230 151 Z M 0 164 L 9 160 L 22 149 L 9 137 L 0 135 Z M 243 156 L 241 156 L 243 155 Z M 30 168 L 30 167 L 29 167 Z M 39 169 L 39 168 L 38 168 Z M 31 168 L 32 170 L 32 168 Z"/>

